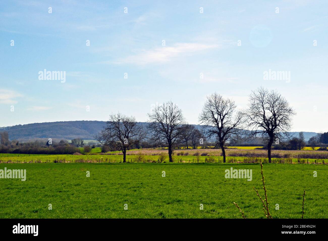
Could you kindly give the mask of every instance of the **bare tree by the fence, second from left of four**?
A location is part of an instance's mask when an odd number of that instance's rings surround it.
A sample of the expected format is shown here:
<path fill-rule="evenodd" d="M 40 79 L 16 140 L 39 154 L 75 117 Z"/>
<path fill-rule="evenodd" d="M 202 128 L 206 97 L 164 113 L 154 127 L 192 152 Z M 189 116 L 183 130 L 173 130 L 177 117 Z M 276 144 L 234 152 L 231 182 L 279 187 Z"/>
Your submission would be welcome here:
<path fill-rule="evenodd" d="M 154 107 L 148 117 L 151 139 L 169 148 L 169 161 L 173 162 L 174 148 L 187 128 L 181 109 L 172 101 L 168 101 Z"/>

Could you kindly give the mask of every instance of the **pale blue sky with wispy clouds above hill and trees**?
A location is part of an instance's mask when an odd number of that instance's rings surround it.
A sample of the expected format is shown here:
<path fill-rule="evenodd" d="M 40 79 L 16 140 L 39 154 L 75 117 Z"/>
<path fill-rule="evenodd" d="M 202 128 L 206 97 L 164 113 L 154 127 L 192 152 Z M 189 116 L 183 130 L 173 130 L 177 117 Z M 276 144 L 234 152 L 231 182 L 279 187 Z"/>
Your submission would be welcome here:
<path fill-rule="evenodd" d="M 147 121 L 168 100 L 197 124 L 206 95 L 245 108 L 263 86 L 294 107 L 293 131 L 327 131 L 327 8 L 306 0 L 1 1 L 0 126 L 105 121 L 117 111 Z M 65 83 L 39 80 L 44 69 L 66 71 Z M 264 80 L 269 70 L 290 79 Z"/>

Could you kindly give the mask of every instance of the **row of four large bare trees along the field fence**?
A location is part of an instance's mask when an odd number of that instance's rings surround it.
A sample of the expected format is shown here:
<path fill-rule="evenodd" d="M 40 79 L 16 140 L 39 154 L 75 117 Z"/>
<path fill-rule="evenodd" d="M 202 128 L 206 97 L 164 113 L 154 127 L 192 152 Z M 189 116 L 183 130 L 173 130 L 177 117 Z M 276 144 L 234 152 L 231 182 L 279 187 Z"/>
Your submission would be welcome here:
<path fill-rule="evenodd" d="M 199 123 L 201 130 L 186 122 L 182 110 L 172 101 L 154 107 L 148 113 L 147 128 L 121 113 L 111 114 L 106 127 L 96 136 L 103 145 L 112 146 L 123 152 L 146 137 L 157 145 L 168 148 L 169 161 L 173 162 L 173 151 L 182 142 L 188 148 L 191 140 L 193 147 L 202 137 L 215 141 L 215 147 L 222 150 L 223 162 L 226 160 L 225 148 L 237 138 L 256 138 L 259 135 L 267 141 L 268 158 L 271 162 L 271 147 L 290 138 L 292 116 L 295 115 L 288 101 L 276 90 L 262 87 L 249 95 L 248 108 L 237 110 L 232 99 L 224 98 L 218 93 L 207 96 Z"/>

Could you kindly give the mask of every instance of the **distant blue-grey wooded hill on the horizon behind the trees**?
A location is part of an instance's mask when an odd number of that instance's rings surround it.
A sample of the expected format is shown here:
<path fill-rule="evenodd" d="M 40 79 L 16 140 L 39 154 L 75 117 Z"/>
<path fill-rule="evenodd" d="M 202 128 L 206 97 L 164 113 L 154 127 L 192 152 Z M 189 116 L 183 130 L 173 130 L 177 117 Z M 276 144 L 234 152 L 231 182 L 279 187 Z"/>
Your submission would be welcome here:
<path fill-rule="evenodd" d="M 145 122 L 140 123 L 142 125 L 147 124 Z M 20 141 L 35 138 L 94 140 L 94 136 L 102 130 L 105 124 L 105 121 L 58 121 L 1 127 L 0 131 L 8 131 L 10 140 Z M 200 128 L 199 125 L 195 125 L 195 127 Z M 298 136 L 298 132 L 292 133 Z M 316 134 L 316 132 L 304 132 L 305 140 L 309 140 Z"/>

